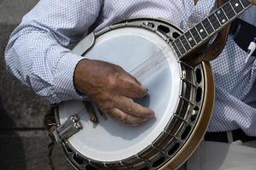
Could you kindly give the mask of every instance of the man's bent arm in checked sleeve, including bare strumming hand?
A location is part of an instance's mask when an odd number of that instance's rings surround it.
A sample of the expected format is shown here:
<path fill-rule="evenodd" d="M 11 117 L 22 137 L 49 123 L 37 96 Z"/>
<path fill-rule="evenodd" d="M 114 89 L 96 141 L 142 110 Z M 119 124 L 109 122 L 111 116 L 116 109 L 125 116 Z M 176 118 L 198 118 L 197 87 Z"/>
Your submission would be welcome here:
<path fill-rule="evenodd" d="M 49 103 L 81 99 L 75 86 L 108 115 L 137 125 L 154 116 L 132 100 L 147 94 L 146 89 L 118 65 L 83 59 L 66 48 L 95 22 L 100 1 L 41 0 L 12 34 L 6 63 L 15 77 Z"/>

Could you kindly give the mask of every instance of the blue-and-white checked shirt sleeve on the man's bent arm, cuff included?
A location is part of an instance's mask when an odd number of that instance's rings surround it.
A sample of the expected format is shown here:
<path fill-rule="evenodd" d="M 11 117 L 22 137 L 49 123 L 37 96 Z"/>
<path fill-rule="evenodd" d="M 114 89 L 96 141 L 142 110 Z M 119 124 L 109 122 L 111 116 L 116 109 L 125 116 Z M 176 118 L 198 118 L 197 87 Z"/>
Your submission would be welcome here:
<path fill-rule="evenodd" d="M 73 71 L 82 57 L 67 45 L 87 34 L 101 6 L 101 0 L 41 0 L 9 39 L 8 70 L 50 104 L 82 99 L 73 87 Z"/>

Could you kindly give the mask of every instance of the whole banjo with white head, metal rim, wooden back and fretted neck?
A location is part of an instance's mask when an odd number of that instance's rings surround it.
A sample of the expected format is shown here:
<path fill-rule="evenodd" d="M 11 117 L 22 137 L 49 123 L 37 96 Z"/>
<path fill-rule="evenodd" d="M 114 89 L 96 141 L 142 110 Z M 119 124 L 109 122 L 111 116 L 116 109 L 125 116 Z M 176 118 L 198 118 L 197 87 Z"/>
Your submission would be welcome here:
<path fill-rule="evenodd" d="M 209 62 L 186 56 L 251 6 L 230 0 L 189 31 L 160 19 L 131 19 L 90 33 L 73 53 L 122 66 L 148 88 L 137 103 L 155 118 L 130 127 L 105 115 L 91 122 L 95 105 L 66 101 L 55 109 L 53 132 L 79 170 L 177 169 L 200 144 L 211 119 L 214 83 Z M 91 57 L 91 58 L 90 58 Z"/>

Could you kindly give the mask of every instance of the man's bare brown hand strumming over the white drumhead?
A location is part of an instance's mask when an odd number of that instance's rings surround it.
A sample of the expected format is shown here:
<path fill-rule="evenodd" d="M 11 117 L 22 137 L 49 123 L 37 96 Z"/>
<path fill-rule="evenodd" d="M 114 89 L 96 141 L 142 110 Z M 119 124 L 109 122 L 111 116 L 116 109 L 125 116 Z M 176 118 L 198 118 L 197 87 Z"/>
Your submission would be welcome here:
<path fill-rule="evenodd" d="M 82 59 L 74 71 L 74 86 L 101 111 L 121 122 L 137 126 L 154 117 L 154 111 L 132 100 L 143 98 L 147 89 L 119 65 Z"/>

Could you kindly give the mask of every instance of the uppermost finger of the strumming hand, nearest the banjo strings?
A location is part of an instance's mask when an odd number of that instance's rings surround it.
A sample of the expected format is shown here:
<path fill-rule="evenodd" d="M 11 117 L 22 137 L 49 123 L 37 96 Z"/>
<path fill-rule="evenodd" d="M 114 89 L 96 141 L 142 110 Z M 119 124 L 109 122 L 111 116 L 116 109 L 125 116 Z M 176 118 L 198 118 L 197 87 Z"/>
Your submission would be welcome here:
<path fill-rule="evenodd" d="M 137 81 L 135 77 L 131 77 L 128 73 L 120 75 L 119 90 L 120 94 L 129 98 L 142 98 L 147 92 L 147 88 Z"/>

